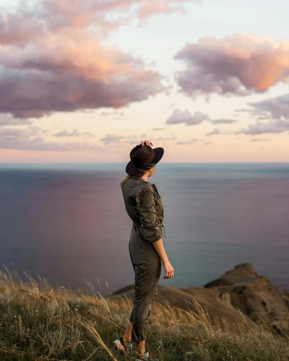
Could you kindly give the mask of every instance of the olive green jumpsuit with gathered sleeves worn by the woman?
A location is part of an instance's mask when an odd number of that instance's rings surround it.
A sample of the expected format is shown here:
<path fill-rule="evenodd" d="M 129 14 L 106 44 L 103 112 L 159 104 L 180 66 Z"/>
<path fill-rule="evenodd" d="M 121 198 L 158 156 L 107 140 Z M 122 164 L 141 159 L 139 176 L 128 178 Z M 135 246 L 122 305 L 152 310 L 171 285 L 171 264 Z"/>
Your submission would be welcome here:
<path fill-rule="evenodd" d="M 163 237 L 164 206 L 155 184 L 129 178 L 122 185 L 125 209 L 133 224 L 129 254 L 135 273 L 132 341 L 145 341 L 151 305 L 157 296 L 162 262 L 153 242 Z"/>

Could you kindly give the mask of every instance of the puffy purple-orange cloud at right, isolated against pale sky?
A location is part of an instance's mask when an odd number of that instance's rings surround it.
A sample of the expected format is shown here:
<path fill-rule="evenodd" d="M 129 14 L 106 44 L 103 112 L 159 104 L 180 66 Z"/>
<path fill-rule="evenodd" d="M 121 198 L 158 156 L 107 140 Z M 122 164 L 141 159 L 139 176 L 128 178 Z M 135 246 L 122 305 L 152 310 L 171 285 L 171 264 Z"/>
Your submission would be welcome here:
<path fill-rule="evenodd" d="M 263 92 L 289 76 L 289 41 L 251 34 L 202 37 L 177 54 L 187 67 L 177 73 L 187 95 L 247 95 Z"/>

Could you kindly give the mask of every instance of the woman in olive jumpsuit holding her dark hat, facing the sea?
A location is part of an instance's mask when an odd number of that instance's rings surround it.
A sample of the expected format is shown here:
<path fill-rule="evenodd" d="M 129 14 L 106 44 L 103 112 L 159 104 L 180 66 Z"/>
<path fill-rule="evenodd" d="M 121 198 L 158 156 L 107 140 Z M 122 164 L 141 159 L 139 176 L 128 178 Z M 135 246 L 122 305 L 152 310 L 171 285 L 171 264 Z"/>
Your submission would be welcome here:
<path fill-rule="evenodd" d="M 156 164 L 164 154 L 163 148 L 151 147 L 149 140 L 141 141 L 130 152 L 126 176 L 121 182 L 125 209 L 133 224 L 129 239 L 129 254 L 135 273 L 134 306 L 122 337 L 114 341 L 121 352 L 140 360 L 151 360 L 145 347 L 151 305 L 157 296 L 162 262 L 164 278 L 173 277 L 172 268 L 163 245 L 164 207 L 156 186 L 148 182 Z M 135 350 L 132 351 L 132 342 Z"/>

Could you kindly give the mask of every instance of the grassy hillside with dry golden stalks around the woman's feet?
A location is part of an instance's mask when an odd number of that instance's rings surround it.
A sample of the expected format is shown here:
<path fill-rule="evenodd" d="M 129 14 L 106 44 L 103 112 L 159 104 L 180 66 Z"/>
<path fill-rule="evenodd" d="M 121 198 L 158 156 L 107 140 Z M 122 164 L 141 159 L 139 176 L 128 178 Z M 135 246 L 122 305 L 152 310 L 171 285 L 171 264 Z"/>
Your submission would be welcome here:
<path fill-rule="evenodd" d="M 16 273 L 0 273 L 1 360 L 122 360 L 111 343 L 125 329 L 128 298 L 103 298 Z M 194 310 L 194 311 L 192 311 Z M 285 361 L 288 340 L 248 320 L 238 324 L 211 320 L 195 302 L 187 310 L 155 304 L 149 348 L 162 361 Z"/>

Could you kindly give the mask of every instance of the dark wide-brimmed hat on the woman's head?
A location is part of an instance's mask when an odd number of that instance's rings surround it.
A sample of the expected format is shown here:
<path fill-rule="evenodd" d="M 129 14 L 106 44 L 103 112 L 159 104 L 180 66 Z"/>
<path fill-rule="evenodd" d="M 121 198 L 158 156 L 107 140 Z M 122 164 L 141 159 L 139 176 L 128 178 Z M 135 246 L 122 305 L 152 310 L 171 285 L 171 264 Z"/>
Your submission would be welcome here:
<path fill-rule="evenodd" d="M 141 174 L 153 168 L 164 155 L 164 148 L 152 148 L 145 145 L 137 145 L 130 151 L 130 162 L 128 162 L 125 171 L 131 176 Z"/>

